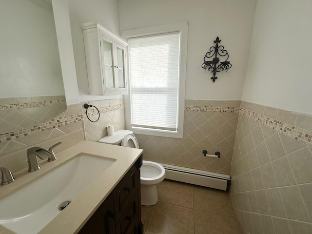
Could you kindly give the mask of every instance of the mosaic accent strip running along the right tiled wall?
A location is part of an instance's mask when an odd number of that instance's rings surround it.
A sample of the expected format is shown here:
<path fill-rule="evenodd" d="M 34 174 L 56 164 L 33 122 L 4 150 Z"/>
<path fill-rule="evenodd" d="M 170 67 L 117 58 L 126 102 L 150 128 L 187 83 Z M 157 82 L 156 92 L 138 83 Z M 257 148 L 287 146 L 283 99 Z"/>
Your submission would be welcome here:
<path fill-rule="evenodd" d="M 312 132 L 309 130 L 281 122 L 274 118 L 263 116 L 259 113 L 255 113 L 245 108 L 240 109 L 240 114 L 250 117 L 271 129 L 287 135 L 288 137 L 305 142 L 306 144 L 312 144 Z"/>

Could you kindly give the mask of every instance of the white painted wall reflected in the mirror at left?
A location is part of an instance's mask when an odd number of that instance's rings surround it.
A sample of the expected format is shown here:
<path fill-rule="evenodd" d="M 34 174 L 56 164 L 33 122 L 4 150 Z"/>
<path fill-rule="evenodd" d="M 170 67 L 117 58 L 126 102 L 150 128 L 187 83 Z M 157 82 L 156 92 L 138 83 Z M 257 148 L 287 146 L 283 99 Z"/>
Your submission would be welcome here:
<path fill-rule="evenodd" d="M 0 0 L 0 98 L 64 95 L 52 11 Z"/>

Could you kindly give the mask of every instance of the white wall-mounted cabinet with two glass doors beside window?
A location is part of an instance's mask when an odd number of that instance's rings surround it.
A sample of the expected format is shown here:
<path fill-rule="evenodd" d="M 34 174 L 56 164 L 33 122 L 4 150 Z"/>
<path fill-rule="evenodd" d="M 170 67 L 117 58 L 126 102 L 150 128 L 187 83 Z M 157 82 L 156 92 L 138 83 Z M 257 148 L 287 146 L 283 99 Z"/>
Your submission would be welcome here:
<path fill-rule="evenodd" d="M 128 42 L 98 22 L 82 23 L 90 95 L 128 94 Z"/>

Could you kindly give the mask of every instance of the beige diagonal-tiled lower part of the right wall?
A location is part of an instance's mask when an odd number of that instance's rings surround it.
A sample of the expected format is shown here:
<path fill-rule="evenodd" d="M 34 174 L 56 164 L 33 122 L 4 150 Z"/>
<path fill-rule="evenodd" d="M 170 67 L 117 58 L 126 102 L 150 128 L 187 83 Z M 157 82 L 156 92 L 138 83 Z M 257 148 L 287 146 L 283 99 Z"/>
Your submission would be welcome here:
<path fill-rule="evenodd" d="M 244 233 L 312 234 L 312 116 L 242 101 L 231 200 Z"/>

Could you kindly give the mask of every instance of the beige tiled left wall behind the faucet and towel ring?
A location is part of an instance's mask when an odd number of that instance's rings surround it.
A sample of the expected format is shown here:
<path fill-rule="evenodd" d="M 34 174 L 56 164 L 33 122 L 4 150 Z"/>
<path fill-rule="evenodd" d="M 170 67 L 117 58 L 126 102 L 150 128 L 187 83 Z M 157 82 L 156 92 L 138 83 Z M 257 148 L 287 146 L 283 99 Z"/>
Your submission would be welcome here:
<path fill-rule="evenodd" d="M 114 125 L 116 130 L 124 128 L 123 99 L 90 102 L 100 112 L 95 123 L 87 119 L 83 104 L 68 105 L 59 117 L 37 126 L 0 135 L 0 167 L 7 167 L 13 173 L 28 167 L 26 150 L 34 145 L 48 149 L 61 141 L 55 148 L 57 153 L 85 139 L 97 141 L 106 136 L 107 125 Z M 94 110 L 88 110 L 91 119 L 98 118 Z"/>

